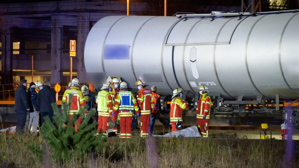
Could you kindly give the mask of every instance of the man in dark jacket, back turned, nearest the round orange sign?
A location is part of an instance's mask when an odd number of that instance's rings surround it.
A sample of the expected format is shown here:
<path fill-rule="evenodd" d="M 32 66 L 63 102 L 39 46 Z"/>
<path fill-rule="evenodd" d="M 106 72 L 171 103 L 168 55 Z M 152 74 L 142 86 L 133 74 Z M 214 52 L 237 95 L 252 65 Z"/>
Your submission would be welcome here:
<path fill-rule="evenodd" d="M 51 103 L 55 103 L 56 98 L 55 93 L 50 88 L 50 85 L 50 81 L 45 81 L 44 87 L 39 91 L 37 96 L 37 106 L 39 107 L 40 114 L 42 116 L 42 124 L 45 122 L 44 117 L 47 115 L 51 122 L 53 122 L 53 109 Z"/>

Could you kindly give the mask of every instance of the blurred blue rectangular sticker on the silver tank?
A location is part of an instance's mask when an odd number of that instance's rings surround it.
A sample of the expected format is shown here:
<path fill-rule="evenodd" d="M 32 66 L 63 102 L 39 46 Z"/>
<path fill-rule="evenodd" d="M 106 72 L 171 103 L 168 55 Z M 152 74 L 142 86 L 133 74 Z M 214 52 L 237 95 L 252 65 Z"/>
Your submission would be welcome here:
<path fill-rule="evenodd" d="M 130 46 L 126 44 L 105 44 L 104 59 L 130 59 Z"/>

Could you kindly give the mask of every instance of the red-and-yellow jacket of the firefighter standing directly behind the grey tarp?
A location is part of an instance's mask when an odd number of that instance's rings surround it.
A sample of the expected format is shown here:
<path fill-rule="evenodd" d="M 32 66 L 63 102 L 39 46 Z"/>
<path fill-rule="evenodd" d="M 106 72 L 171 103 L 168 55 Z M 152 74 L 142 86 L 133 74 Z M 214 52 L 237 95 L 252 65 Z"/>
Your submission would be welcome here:
<path fill-rule="evenodd" d="M 173 98 L 170 103 L 170 122 L 176 122 L 178 120 L 183 122 L 182 112 L 187 109 L 188 106 L 181 97 Z"/>

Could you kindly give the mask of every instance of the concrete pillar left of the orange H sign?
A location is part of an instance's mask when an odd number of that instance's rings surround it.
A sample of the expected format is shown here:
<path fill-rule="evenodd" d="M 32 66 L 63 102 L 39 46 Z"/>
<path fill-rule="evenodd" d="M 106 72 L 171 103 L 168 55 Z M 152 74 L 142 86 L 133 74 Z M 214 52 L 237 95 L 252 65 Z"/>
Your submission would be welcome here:
<path fill-rule="evenodd" d="M 51 84 L 62 81 L 61 69 L 61 43 L 62 43 L 62 25 L 59 21 L 60 16 L 51 18 Z"/>

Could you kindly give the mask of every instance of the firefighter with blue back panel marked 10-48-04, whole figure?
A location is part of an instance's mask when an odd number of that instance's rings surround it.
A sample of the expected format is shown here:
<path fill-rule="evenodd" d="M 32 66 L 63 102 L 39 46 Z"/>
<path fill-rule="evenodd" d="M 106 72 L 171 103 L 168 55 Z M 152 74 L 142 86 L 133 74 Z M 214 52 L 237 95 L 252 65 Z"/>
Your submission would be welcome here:
<path fill-rule="evenodd" d="M 125 81 L 120 82 L 121 91 L 116 95 L 113 113 L 120 110 L 120 138 L 132 138 L 132 116 L 135 110 L 136 115 L 139 115 L 139 108 L 135 96 L 128 91 L 128 84 Z"/>

